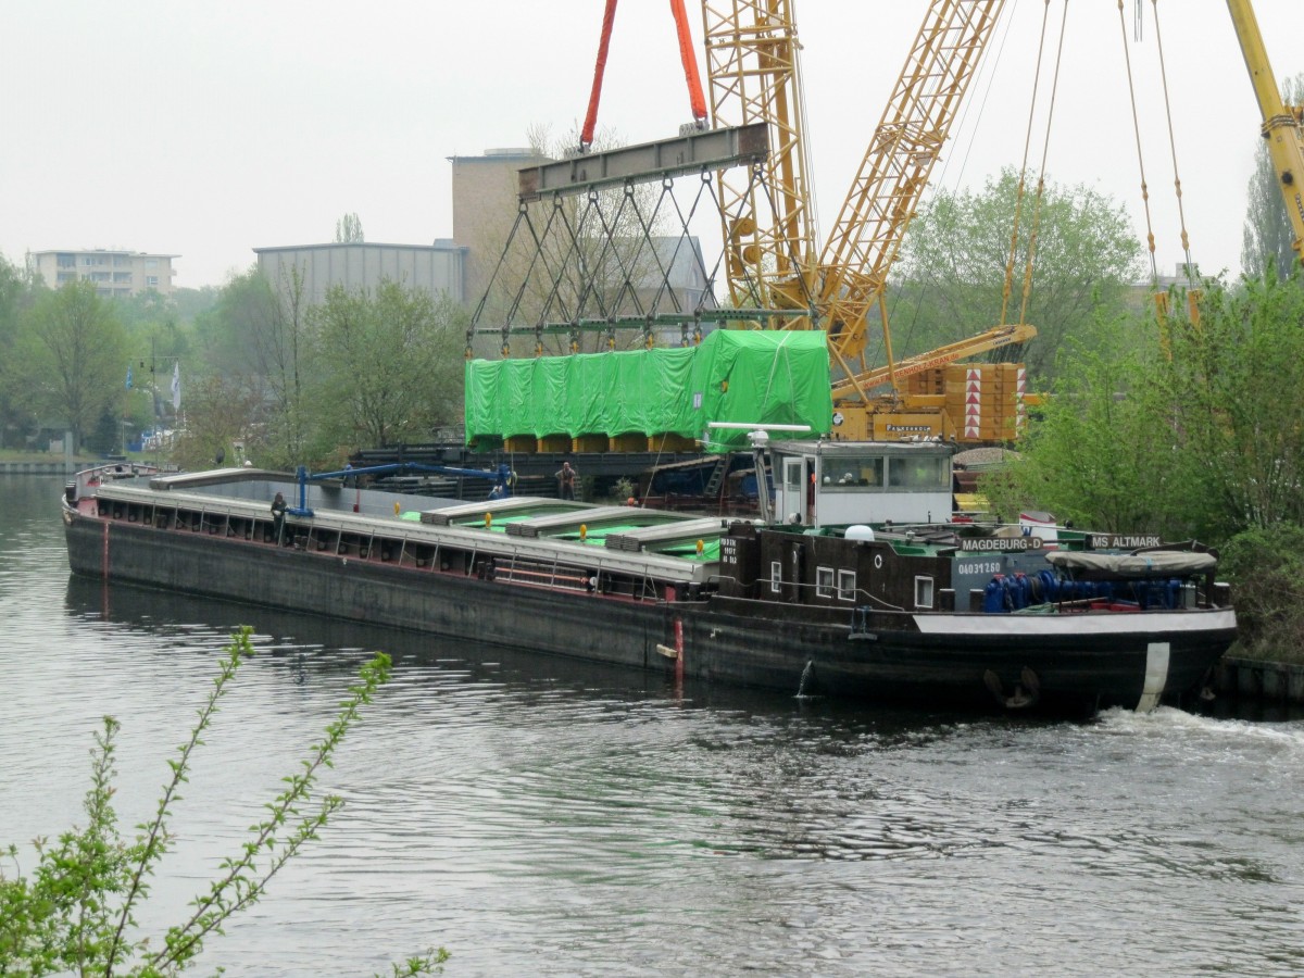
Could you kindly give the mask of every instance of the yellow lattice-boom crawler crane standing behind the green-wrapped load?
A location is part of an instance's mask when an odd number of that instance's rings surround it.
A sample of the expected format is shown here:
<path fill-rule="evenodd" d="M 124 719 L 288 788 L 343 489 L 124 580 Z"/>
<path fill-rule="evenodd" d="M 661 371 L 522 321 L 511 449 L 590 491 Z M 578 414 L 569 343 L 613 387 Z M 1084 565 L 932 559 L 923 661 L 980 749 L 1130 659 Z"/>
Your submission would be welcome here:
<path fill-rule="evenodd" d="M 909 374 L 1024 343 L 1037 330 L 998 326 L 897 363 L 883 303 L 888 271 L 938 162 L 1004 0 L 932 0 L 892 98 L 874 130 L 833 230 L 816 256 L 810 162 L 802 137 L 801 44 L 793 0 L 703 0 L 707 74 L 717 126 L 764 121 L 765 180 L 720 176 L 726 270 L 734 305 L 781 310 L 771 329 L 822 329 L 833 373 L 835 437 L 936 434 L 966 442 L 1015 434 L 1021 403 L 1003 391 L 1001 416 L 981 430 L 939 393 L 901 390 Z M 772 200 L 763 200 L 765 192 Z M 769 220 L 769 215 L 773 215 Z M 885 365 L 865 347 L 878 306 Z M 891 383 L 893 393 L 871 390 Z"/>

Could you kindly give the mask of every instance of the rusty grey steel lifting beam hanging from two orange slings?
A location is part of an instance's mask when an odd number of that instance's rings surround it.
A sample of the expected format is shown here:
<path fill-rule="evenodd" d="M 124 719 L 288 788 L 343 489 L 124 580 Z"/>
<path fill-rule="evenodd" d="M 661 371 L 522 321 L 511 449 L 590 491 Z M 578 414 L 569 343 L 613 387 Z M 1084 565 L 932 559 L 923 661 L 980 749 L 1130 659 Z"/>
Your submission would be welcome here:
<path fill-rule="evenodd" d="M 548 194 L 572 196 L 610 184 L 645 184 L 686 173 L 758 164 L 768 155 L 769 126 L 765 123 L 708 129 L 606 153 L 584 153 L 522 170 L 518 197 L 527 203 Z"/>

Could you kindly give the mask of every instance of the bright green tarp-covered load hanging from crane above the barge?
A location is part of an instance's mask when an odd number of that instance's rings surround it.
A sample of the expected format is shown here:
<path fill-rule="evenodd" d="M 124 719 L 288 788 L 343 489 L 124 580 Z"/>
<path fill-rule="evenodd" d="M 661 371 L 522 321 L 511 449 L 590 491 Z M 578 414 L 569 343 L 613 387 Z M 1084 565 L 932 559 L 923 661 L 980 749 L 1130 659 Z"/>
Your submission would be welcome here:
<path fill-rule="evenodd" d="M 828 346 L 819 330 L 716 330 L 698 347 L 471 360 L 467 441 L 678 434 L 703 439 L 711 421 L 805 424 L 827 434 L 833 415 Z M 712 433 L 708 450 L 746 446 Z"/>

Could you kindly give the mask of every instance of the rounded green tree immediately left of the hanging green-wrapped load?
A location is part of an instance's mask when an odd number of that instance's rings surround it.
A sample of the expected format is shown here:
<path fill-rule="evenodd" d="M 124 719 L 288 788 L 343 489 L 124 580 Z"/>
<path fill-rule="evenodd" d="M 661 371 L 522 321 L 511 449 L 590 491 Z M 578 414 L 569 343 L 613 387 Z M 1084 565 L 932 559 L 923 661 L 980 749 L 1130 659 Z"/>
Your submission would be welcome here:
<path fill-rule="evenodd" d="M 447 296 L 390 279 L 335 286 L 310 319 L 325 365 L 316 404 L 338 447 L 425 439 L 459 413 L 466 318 Z"/>

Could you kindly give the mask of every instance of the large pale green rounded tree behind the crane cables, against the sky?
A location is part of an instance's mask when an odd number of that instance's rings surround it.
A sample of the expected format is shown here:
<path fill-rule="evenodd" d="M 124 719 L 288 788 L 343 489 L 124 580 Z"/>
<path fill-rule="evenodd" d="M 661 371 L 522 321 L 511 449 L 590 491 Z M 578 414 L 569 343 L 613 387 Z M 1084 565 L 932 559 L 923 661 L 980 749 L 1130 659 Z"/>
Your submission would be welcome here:
<path fill-rule="evenodd" d="M 927 201 L 902 243 L 900 279 L 889 296 L 893 353 L 898 357 L 973 336 L 998 325 L 1011 233 L 1018 210 L 1018 175 L 1004 170 L 978 192 L 939 193 Z M 1099 334 L 1098 313 L 1114 322 L 1129 283 L 1141 276 L 1141 245 L 1125 210 L 1086 186 L 1047 184 L 1041 205 L 1024 196 L 1008 322 L 1034 325 L 1037 339 L 1017 353 L 1038 383 L 1054 377 L 1060 348 L 1129 342 Z M 1034 266 L 1021 317 L 1024 269 Z"/>

